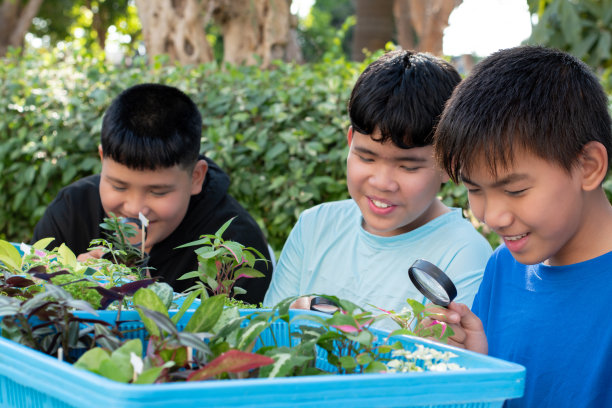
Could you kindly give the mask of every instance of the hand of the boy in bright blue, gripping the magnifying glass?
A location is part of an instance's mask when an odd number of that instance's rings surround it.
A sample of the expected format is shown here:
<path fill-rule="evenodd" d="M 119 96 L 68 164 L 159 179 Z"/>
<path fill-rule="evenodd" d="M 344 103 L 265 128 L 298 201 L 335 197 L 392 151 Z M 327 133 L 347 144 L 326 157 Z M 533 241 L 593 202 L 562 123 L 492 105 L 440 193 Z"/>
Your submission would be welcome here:
<path fill-rule="evenodd" d="M 466 305 L 452 302 L 448 309 L 432 306 L 428 308 L 428 312 L 435 314 L 431 316 L 432 319 L 445 322 L 453 329 L 454 334 L 448 338 L 448 344 L 478 353 L 488 353 L 489 346 L 482 322 Z"/>

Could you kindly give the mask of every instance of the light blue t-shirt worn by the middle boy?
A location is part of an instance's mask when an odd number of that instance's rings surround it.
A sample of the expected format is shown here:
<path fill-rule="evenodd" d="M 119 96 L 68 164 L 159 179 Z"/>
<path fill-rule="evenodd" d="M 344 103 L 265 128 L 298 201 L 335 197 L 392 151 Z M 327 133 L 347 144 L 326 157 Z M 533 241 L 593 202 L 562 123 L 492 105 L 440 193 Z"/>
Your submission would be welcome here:
<path fill-rule="evenodd" d="M 271 307 L 289 296 L 317 293 L 400 311 L 408 298 L 427 302 L 408 277 L 408 268 L 422 258 L 450 276 L 456 301 L 469 306 L 491 253 L 460 209 L 405 234 L 381 237 L 363 229 L 353 200 L 324 203 L 301 214 L 263 304 Z"/>

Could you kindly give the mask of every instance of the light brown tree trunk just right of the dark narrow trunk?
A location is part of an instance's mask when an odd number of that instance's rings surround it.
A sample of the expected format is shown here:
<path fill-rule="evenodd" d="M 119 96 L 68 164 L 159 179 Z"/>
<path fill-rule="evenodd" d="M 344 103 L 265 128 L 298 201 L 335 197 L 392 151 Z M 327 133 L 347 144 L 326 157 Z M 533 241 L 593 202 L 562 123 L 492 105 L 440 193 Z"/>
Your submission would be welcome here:
<path fill-rule="evenodd" d="M 444 29 L 452 11 L 463 0 L 395 0 L 398 41 L 402 48 L 442 55 Z M 408 23 L 410 22 L 410 23 Z M 400 25 L 412 26 L 414 32 L 402 33 Z M 415 41 L 416 35 L 416 41 Z"/>

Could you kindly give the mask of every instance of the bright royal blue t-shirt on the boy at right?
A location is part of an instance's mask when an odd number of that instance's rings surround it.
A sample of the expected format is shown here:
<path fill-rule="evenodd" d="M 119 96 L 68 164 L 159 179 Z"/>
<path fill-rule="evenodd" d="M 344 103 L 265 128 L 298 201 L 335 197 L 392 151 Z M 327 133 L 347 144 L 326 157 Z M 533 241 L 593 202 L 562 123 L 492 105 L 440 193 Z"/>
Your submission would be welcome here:
<path fill-rule="evenodd" d="M 491 256 L 472 310 L 489 355 L 527 368 L 508 407 L 612 407 L 612 252 L 574 265 Z"/>

